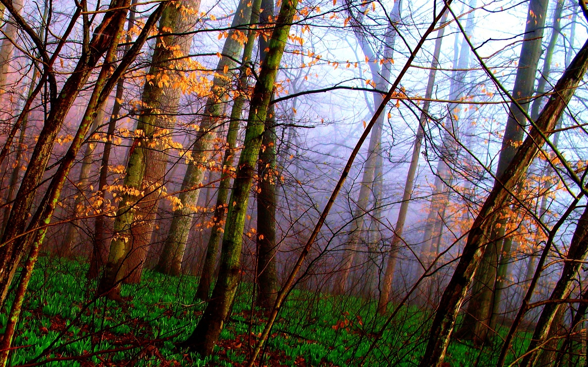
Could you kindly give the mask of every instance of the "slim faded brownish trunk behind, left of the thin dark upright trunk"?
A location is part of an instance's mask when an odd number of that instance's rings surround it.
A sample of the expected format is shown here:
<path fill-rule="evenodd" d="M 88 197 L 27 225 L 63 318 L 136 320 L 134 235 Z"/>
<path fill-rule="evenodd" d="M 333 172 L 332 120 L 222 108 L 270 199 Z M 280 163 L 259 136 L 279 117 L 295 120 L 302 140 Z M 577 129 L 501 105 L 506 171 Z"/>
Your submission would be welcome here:
<path fill-rule="evenodd" d="M 102 124 L 103 120 L 104 110 L 100 109 L 98 110 L 98 115 L 96 115 L 96 118 L 92 122 L 90 133 L 95 132 L 98 128 L 98 125 Z M 63 257 L 69 257 L 72 254 L 72 250 L 79 240 L 78 225 L 75 221 L 75 218 L 81 216 L 83 213 L 83 201 L 85 199 L 85 193 L 88 191 L 88 179 L 90 176 L 90 169 L 92 168 L 92 155 L 94 154 L 96 143 L 96 141 L 90 139 L 86 145 L 86 151 L 83 154 L 82 167 L 79 170 L 78 182 L 76 183 L 76 188 L 78 188 L 79 193 L 74 201 L 74 220 L 68 223 L 65 230 L 64 241 L 59 245 L 58 249 L 59 255 Z"/>

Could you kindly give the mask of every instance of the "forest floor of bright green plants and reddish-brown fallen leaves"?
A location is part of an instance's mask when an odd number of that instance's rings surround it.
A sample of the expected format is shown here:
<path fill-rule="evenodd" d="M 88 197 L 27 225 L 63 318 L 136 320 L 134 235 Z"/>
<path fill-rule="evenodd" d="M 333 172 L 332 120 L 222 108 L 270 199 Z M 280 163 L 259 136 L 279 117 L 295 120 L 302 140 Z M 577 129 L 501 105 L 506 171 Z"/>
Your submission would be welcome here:
<path fill-rule="evenodd" d="M 11 366 L 235 366 L 246 364 L 265 317 L 251 309 L 242 283 L 215 354 L 201 358 L 176 348 L 191 334 L 205 304 L 195 301 L 197 280 L 145 270 L 141 284 L 122 287 L 124 302 L 93 298 L 81 262 L 44 257 L 35 269 Z M 11 299 L 8 299 L 10 306 Z M 386 318 L 373 302 L 293 291 L 277 320 L 259 366 L 355 366 Z M 429 312 L 399 312 L 370 350 L 366 366 L 415 366 L 425 346 Z M 6 324 L 5 312 L 0 325 Z M 0 332 L 4 332 L 0 330 Z M 452 343 L 446 365 L 473 366 L 481 351 Z M 492 357 L 490 356 L 490 359 Z"/>

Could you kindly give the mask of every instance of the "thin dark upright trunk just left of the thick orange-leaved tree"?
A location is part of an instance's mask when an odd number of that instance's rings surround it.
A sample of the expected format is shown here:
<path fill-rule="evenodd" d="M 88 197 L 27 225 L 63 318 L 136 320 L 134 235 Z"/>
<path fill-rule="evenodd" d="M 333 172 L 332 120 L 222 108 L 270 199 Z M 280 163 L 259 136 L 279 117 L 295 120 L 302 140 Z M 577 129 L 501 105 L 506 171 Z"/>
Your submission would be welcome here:
<path fill-rule="evenodd" d="M 138 0 L 132 0 L 131 5 L 135 5 Z M 135 26 L 135 6 L 131 6 L 131 11 L 129 12 L 129 20 L 126 26 L 127 32 L 131 31 L 131 29 Z M 127 42 L 131 41 L 131 37 L 127 36 Z M 125 46 L 124 55 L 129 52 L 131 48 L 130 44 Z M 99 204 L 99 211 L 102 213 L 106 209 L 106 185 L 108 184 L 108 168 L 110 164 L 110 154 L 112 150 L 112 144 L 114 143 L 114 132 L 116 129 L 116 122 L 120 119 L 121 107 L 122 107 L 122 98 L 123 93 L 125 92 L 125 78 L 121 78 L 118 80 L 116 84 L 116 92 L 115 92 L 115 99 L 114 105 L 112 106 L 112 113 L 110 120 L 108 122 L 108 128 L 106 129 L 106 142 L 104 142 L 104 148 L 102 151 L 102 160 L 100 165 L 100 176 L 98 178 L 98 200 Z M 108 238 L 106 237 L 106 218 L 104 216 L 96 217 L 94 222 L 94 238 L 92 244 L 92 253 L 90 255 L 90 268 L 88 270 L 88 279 L 93 279 L 98 277 L 100 271 L 102 270 L 104 264 L 106 264 L 106 260 L 108 260 L 108 249 L 109 243 Z"/>

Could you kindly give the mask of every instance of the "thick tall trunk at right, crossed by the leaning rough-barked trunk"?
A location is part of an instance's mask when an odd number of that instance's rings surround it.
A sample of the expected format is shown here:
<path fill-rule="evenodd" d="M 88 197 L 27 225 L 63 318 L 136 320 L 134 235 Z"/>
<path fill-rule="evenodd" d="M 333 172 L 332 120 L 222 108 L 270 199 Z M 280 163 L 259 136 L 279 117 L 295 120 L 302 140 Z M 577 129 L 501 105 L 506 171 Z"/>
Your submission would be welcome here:
<path fill-rule="evenodd" d="M 519 100 L 519 105 L 527 111 L 530 97 L 533 95 L 534 80 L 541 56 L 541 42 L 543 28 L 547 16 L 548 0 L 531 0 L 527 11 L 527 23 L 520 50 L 519 65 L 515 77 L 512 95 Z M 515 103 L 510 104 L 509 116 L 506 122 L 505 136 L 502 140 L 502 150 L 496 169 L 496 177 L 502 177 L 516 153 L 516 147 L 523 139 L 523 126 L 526 126 L 524 113 Z M 492 251 L 485 251 L 482 265 L 476 271 L 460 338 L 472 339 L 476 344 L 486 341 L 489 331 L 489 321 L 492 318 L 492 302 L 498 268 L 498 253 L 502 248 L 505 235 L 506 221 L 500 221 L 492 241 Z"/>

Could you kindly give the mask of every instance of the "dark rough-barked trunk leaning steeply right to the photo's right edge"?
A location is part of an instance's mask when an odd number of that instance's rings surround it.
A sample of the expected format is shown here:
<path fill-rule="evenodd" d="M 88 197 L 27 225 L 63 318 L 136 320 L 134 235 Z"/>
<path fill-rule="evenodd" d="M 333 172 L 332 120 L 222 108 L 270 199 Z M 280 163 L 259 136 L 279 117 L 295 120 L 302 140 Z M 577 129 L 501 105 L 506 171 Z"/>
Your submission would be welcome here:
<path fill-rule="evenodd" d="M 577 53 L 569 68 L 554 87 L 555 93 L 543 108 L 536 120 L 529 136 L 524 139 L 515 157 L 495 183 L 489 196 L 477 215 L 467 237 L 467 243 L 462 251 L 459 263 L 447 285 L 443 297 L 437 307 L 435 318 L 429 332 L 429 340 L 419 367 L 437 367 L 443 362 L 449 338 L 457 317 L 457 312 L 465 299 L 467 287 L 473 278 L 476 268 L 485 252 L 487 238 L 497 223 L 500 212 L 507 206 L 513 188 L 520 183 L 527 167 L 536 156 L 539 148 L 537 142 L 543 142 L 543 137 L 549 137 L 557 120 L 559 120 L 567 103 L 576 91 L 588 68 L 588 42 Z M 486 70 L 490 73 L 489 70 Z"/>

